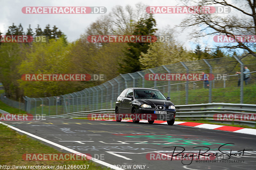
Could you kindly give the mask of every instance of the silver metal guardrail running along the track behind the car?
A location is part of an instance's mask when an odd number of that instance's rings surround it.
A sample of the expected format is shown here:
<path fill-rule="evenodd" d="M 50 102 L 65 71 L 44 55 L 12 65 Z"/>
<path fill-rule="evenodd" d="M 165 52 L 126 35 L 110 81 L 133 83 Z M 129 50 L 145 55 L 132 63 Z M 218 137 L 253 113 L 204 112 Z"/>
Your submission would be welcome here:
<path fill-rule="evenodd" d="M 203 103 L 203 104 L 188 104 L 188 105 L 176 105 L 176 118 L 180 119 L 206 119 L 214 121 L 215 123 L 226 123 L 226 124 L 240 124 L 255 126 L 256 121 L 245 121 L 245 120 L 233 120 L 233 121 L 217 121 L 213 119 L 215 114 L 250 114 L 256 117 L 256 104 L 233 104 L 233 103 Z M 47 117 L 58 117 L 58 118 L 75 118 L 75 117 L 87 117 L 89 114 L 114 114 L 115 109 L 102 109 L 93 111 L 81 111 L 75 113 L 68 113 L 65 115 L 54 115 Z"/>

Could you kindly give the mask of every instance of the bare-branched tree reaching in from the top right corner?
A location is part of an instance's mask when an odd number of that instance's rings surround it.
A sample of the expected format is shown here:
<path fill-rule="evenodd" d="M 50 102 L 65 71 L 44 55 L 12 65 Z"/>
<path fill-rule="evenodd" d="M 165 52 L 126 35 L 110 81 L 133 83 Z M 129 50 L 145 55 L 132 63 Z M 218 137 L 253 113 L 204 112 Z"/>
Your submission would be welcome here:
<path fill-rule="evenodd" d="M 232 2 L 232 3 L 231 3 Z M 193 31 L 190 38 L 204 37 L 206 35 L 226 35 L 235 37 L 235 35 L 256 35 L 256 0 L 201 0 L 192 3 L 190 0 L 184 0 L 182 3 L 186 6 L 226 6 L 230 7 L 231 13 L 194 13 L 188 15 L 180 27 L 190 28 Z M 192 5 L 191 5 L 192 4 Z M 216 48 L 244 49 L 250 54 L 255 54 L 255 43 L 237 41 L 228 43 Z M 215 49 L 216 49 L 215 48 Z"/>

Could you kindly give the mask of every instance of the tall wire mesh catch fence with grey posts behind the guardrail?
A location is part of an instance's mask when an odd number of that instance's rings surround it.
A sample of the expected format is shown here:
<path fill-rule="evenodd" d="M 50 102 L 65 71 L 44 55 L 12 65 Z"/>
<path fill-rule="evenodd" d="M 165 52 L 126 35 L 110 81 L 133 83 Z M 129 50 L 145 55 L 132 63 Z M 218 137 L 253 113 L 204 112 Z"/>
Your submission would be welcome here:
<path fill-rule="evenodd" d="M 250 70 L 249 79 L 242 78 L 244 66 Z M 241 75 L 236 74 L 237 71 Z M 207 82 L 148 80 L 148 74 L 213 74 Z M 238 81 L 240 79 L 240 86 Z M 256 104 L 256 56 L 232 56 L 216 59 L 179 62 L 171 65 L 120 74 L 105 83 L 82 91 L 44 98 L 23 97 L 22 109 L 30 114 L 60 115 L 78 111 L 114 109 L 116 98 L 129 87 L 158 89 L 171 97 L 174 105 L 200 103 Z M 1 96 L 3 102 L 3 96 Z M 10 100 L 10 99 L 9 99 Z M 10 101 L 8 101 L 9 105 Z M 17 104 L 13 104 L 17 107 Z"/>

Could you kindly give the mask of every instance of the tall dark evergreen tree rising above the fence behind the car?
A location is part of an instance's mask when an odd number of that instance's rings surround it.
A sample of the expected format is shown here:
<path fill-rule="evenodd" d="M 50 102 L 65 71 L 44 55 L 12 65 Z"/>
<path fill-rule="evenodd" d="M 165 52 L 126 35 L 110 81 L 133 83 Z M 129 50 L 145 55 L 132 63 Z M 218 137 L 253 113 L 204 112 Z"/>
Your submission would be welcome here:
<path fill-rule="evenodd" d="M 135 25 L 133 35 L 154 35 L 156 32 L 156 20 L 152 14 L 147 19 L 141 18 Z M 119 63 L 119 72 L 122 74 L 133 73 L 141 70 L 140 56 L 142 53 L 147 53 L 150 43 L 128 43 L 129 48 L 124 50 L 123 63 Z"/>

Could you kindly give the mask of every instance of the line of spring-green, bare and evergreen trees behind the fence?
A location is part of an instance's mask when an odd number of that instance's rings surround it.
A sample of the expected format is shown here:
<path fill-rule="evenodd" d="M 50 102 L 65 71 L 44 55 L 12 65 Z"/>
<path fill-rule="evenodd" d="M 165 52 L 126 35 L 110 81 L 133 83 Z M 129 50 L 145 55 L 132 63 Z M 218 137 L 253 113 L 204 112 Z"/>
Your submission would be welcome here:
<path fill-rule="evenodd" d="M 18 100 L 21 96 L 48 97 L 68 94 L 100 85 L 119 74 L 133 73 L 147 68 L 224 57 L 220 49 L 208 51 L 197 46 L 189 51 L 175 40 L 175 31 L 169 26 L 156 29 L 156 20 L 144 10 L 116 6 L 93 22 L 74 42 L 55 25 L 42 30 L 31 26 L 24 32 L 21 24 L 9 27 L 5 35 L 47 36 L 47 42 L 1 43 L 0 82 L 6 95 Z M 138 12 L 145 11 L 145 12 Z M 155 43 L 89 43 L 89 35 L 168 35 L 170 42 Z M 177 34 L 176 34 L 177 35 Z M 104 81 L 22 81 L 22 74 L 104 74 Z"/>

